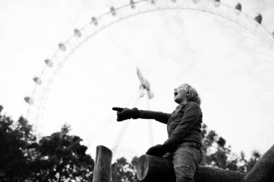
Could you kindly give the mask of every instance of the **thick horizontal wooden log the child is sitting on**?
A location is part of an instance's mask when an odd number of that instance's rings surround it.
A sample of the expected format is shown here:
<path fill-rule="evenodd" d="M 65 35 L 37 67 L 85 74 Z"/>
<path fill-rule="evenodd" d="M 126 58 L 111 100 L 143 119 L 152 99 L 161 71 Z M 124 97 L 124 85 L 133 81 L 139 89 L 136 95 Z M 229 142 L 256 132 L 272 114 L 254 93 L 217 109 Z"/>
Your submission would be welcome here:
<path fill-rule="evenodd" d="M 195 172 L 196 182 L 240 182 L 245 177 L 242 172 L 199 166 Z M 171 159 L 142 155 L 137 164 L 139 181 L 176 181 Z"/>

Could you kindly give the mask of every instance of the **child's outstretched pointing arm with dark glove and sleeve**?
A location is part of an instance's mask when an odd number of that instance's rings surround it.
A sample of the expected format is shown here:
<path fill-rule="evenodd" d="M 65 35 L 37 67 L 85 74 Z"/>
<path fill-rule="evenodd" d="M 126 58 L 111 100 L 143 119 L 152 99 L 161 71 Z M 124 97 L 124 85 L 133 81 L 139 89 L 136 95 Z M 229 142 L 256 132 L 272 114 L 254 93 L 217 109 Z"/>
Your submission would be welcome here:
<path fill-rule="evenodd" d="M 141 118 L 141 119 L 154 119 L 164 124 L 167 124 L 167 121 L 169 120 L 169 116 L 171 116 L 171 114 L 167 114 L 164 112 L 139 110 L 136 107 L 134 107 L 133 109 L 113 107 L 112 109 L 114 111 L 117 111 L 117 121 L 127 120 L 130 118 L 133 118 L 133 119 Z"/>

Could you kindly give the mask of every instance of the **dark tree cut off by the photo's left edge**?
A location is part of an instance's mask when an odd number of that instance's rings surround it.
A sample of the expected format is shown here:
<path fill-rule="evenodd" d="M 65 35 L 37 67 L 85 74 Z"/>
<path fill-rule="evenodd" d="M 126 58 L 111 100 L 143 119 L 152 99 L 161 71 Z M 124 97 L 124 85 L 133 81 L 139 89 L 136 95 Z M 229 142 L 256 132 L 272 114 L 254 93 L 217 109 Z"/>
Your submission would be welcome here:
<path fill-rule="evenodd" d="M 0 105 L 0 181 L 25 181 L 32 174 L 36 138 L 27 120 L 14 122 L 1 115 L 2 109 Z"/>

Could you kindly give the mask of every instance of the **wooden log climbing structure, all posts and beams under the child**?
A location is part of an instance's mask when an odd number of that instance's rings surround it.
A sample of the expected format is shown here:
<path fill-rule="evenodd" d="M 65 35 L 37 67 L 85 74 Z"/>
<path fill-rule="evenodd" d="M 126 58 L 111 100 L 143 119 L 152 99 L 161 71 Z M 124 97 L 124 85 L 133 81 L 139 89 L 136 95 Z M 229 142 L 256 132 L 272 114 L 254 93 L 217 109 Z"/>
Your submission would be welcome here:
<path fill-rule="evenodd" d="M 92 182 L 116 182 L 115 164 L 111 164 L 112 151 L 97 146 Z M 274 145 L 257 161 L 247 173 L 199 166 L 195 172 L 196 182 L 272 182 L 274 179 Z M 175 172 L 170 159 L 142 155 L 137 164 L 137 178 L 147 182 L 173 182 Z"/>

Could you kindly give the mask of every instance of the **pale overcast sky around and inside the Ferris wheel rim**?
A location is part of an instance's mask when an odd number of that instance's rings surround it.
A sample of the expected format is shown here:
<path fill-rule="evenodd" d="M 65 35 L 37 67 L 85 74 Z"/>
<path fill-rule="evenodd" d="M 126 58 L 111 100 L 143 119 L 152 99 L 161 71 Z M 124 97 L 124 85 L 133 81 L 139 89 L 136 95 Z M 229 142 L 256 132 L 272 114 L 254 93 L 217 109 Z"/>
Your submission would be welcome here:
<path fill-rule="evenodd" d="M 222 2 L 234 6 L 238 1 Z M 273 32 L 274 1 L 239 2 L 251 17 L 260 12 L 262 25 Z M 42 73 L 58 43 L 92 16 L 128 3 L 0 1 L 0 105 L 5 114 L 14 120 L 27 116 L 23 98 L 32 94 L 32 78 Z M 116 23 L 88 39 L 58 71 L 40 114 L 40 131 L 47 135 L 67 122 L 94 155 L 97 144 L 112 148 L 119 140 L 125 123 L 116 122 L 113 106 L 172 112 L 173 88 L 190 83 L 202 96 L 204 122 L 232 151 L 263 152 L 274 143 L 274 84 L 248 36 L 225 18 L 187 10 L 151 12 Z M 136 66 L 155 93 L 149 105 L 144 98 L 137 101 Z M 166 127 L 152 123 L 153 144 L 164 142 Z M 130 121 L 120 155 L 145 153 L 151 146 L 149 132 L 147 121 Z"/>

